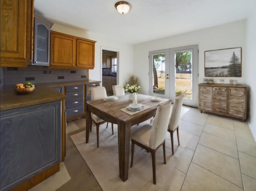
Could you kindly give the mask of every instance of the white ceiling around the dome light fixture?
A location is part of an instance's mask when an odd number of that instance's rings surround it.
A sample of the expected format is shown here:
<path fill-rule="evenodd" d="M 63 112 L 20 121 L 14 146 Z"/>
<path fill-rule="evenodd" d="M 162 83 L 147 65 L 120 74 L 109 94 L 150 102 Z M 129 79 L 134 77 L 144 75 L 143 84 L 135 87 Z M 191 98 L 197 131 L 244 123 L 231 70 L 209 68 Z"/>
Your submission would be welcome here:
<path fill-rule="evenodd" d="M 35 11 L 52 22 L 130 44 L 137 44 L 246 19 L 256 0 L 127 0 L 128 14 L 118 13 L 118 0 L 34 0 Z"/>

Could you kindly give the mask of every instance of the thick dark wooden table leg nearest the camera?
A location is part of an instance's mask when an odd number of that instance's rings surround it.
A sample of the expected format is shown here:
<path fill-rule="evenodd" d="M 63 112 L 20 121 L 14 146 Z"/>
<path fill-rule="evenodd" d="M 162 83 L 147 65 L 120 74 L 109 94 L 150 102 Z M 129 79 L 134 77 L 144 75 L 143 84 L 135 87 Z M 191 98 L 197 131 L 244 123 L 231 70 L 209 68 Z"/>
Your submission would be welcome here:
<path fill-rule="evenodd" d="M 119 177 L 128 179 L 131 123 L 118 122 Z"/>

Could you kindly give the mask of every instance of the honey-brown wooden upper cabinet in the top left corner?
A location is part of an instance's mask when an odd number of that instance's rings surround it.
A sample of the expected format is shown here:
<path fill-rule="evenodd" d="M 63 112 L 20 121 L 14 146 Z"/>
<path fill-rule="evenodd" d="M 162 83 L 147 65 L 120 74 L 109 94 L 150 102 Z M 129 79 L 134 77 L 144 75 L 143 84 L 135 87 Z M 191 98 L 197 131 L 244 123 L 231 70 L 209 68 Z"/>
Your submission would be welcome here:
<path fill-rule="evenodd" d="M 0 2 L 0 66 L 26 67 L 32 58 L 34 0 Z"/>

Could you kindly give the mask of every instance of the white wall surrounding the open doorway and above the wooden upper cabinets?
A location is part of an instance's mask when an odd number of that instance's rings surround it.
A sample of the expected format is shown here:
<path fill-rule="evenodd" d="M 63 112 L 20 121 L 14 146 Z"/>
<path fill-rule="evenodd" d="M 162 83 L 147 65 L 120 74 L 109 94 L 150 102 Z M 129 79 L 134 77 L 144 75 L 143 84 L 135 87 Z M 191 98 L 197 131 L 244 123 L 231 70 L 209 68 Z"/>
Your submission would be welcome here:
<path fill-rule="evenodd" d="M 119 65 L 118 65 L 119 68 L 118 68 L 118 76 L 117 76 L 118 84 L 125 84 L 125 82 L 129 79 L 130 74 L 132 74 L 133 72 L 132 48 L 133 47 L 131 44 L 126 44 L 126 43 L 102 38 L 101 36 L 92 34 L 85 30 L 72 28 L 70 26 L 66 26 L 56 22 L 54 22 L 54 25 L 52 26 L 51 30 L 97 41 L 95 44 L 95 67 L 94 67 L 94 70 L 89 70 L 90 80 L 102 81 L 101 47 L 109 48 L 110 50 L 116 50 L 117 52 L 119 52 Z"/>

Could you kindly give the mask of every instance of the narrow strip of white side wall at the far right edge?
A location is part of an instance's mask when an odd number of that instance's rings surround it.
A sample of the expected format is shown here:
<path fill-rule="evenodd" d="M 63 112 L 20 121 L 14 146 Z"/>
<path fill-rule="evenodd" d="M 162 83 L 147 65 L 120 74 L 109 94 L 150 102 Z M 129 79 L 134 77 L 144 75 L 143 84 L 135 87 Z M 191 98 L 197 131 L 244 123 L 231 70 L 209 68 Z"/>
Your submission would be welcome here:
<path fill-rule="evenodd" d="M 249 115 L 248 125 L 251 129 L 254 140 L 256 141 L 256 2 L 247 20 L 247 71 L 246 82 L 248 84 L 248 103 Z"/>

